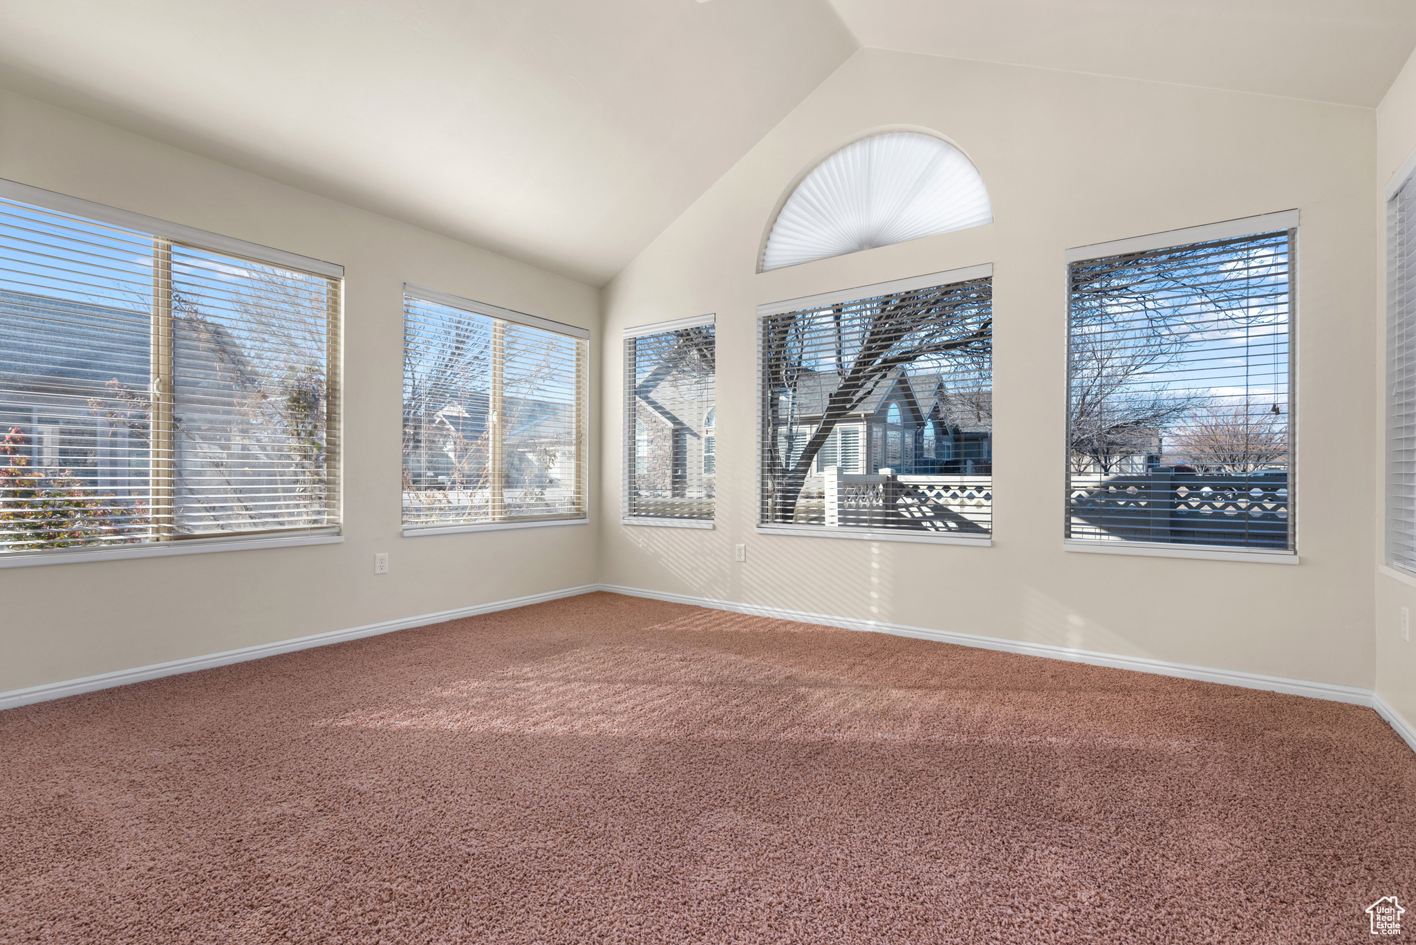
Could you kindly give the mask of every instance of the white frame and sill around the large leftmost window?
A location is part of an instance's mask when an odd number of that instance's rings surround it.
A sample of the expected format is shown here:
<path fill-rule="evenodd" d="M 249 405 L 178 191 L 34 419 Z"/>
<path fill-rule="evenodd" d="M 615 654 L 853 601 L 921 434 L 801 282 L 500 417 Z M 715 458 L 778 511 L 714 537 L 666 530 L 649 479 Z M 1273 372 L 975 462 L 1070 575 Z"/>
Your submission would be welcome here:
<path fill-rule="evenodd" d="M 330 358 L 329 381 L 337 385 L 340 390 L 343 390 L 344 266 L 334 262 L 326 262 L 324 259 L 314 259 L 312 256 L 303 256 L 296 252 L 287 252 L 285 249 L 262 247 L 261 244 L 248 242 L 245 239 L 236 239 L 235 237 L 227 237 L 218 232 L 198 230 L 197 227 L 188 227 L 185 224 L 177 224 L 167 220 L 159 220 L 157 217 L 147 217 L 144 214 L 137 214 L 130 210 L 119 210 L 118 207 L 108 207 L 105 204 L 98 204 L 91 200 L 84 200 L 81 197 L 71 197 L 68 194 L 59 194 L 52 190 L 31 187 L 30 184 L 21 184 L 14 180 L 0 179 L 0 197 L 21 204 L 30 204 L 33 207 L 42 207 L 45 210 L 54 210 L 57 213 L 93 220 L 96 222 L 110 224 L 113 227 L 122 227 L 125 230 L 136 230 L 139 232 L 150 234 L 153 237 L 160 237 L 163 239 L 170 239 L 173 242 L 198 247 L 201 249 L 210 249 L 212 252 L 227 254 L 232 256 L 242 256 L 245 259 L 251 259 L 252 262 L 265 262 L 273 266 L 297 269 L 314 275 L 327 276 L 330 279 L 338 279 L 340 317 L 337 317 L 336 324 L 330 326 L 327 353 Z M 331 455 L 329 456 L 327 462 L 337 465 L 337 468 L 343 470 L 344 469 L 343 398 L 340 400 L 338 412 L 330 422 L 330 425 L 336 428 L 336 436 L 333 438 L 334 449 L 331 451 Z M 178 554 L 211 554 L 214 551 L 289 548 L 307 544 L 340 544 L 344 541 L 343 496 L 344 496 L 344 476 L 341 475 L 336 482 L 334 494 L 331 494 L 329 499 L 331 507 L 336 510 L 336 519 L 338 521 L 338 524 L 333 526 L 306 528 L 306 530 L 290 530 L 279 536 L 232 534 L 229 537 L 228 536 L 211 536 L 200 538 L 194 537 L 194 538 L 184 538 L 181 541 L 152 541 L 142 544 L 112 545 L 108 548 L 78 547 L 78 548 L 47 548 L 42 551 L 18 551 L 13 554 L 0 555 L 0 570 L 30 568 L 47 564 L 84 564 L 92 561 L 118 561 L 123 558 L 166 558 Z"/>

